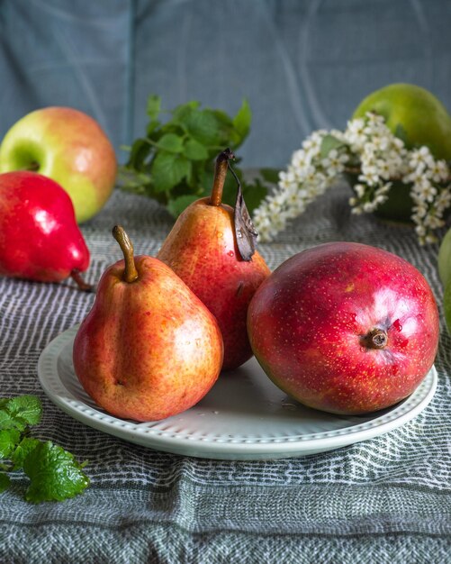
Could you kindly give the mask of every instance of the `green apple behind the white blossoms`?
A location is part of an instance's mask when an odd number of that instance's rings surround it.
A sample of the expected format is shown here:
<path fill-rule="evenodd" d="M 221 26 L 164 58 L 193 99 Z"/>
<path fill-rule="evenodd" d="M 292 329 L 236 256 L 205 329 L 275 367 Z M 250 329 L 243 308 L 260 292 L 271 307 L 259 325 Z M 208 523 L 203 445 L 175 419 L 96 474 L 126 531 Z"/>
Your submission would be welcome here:
<path fill-rule="evenodd" d="M 451 115 L 425 88 L 402 83 L 384 86 L 365 97 L 353 118 L 364 117 L 366 112 L 383 115 L 408 149 L 426 145 L 436 159 L 451 159 Z M 411 207 L 410 186 L 399 181 L 377 213 L 385 219 L 410 221 Z"/>

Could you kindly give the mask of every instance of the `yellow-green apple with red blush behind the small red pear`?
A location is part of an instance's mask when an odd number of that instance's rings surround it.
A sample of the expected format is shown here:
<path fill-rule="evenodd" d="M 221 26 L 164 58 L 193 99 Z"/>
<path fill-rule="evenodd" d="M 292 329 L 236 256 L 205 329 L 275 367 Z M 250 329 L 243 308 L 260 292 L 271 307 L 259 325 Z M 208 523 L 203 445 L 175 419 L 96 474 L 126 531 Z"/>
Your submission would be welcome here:
<path fill-rule="evenodd" d="M 21 169 L 63 186 L 82 223 L 111 196 L 117 161 L 111 142 L 92 117 L 55 106 L 26 114 L 6 132 L 0 145 L 0 173 Z"/>

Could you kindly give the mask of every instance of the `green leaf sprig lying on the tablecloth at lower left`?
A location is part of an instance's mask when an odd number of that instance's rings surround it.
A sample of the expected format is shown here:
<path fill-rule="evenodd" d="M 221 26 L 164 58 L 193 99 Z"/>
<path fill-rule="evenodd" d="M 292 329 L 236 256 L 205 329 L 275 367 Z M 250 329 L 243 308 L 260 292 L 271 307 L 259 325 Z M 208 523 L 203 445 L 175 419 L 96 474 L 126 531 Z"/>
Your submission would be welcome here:
<path fill-rule="evenodd" d="M 89 485 L 83 472 L 86 462 L 79 464 L 67 450 L 31 437 L 30 427 L 41 417 L 37 396 L 0 398 L 0 493 L 10 486 L 10 472 L 23 469 L 30 478 L 27 501 L 63 501 Z"/>

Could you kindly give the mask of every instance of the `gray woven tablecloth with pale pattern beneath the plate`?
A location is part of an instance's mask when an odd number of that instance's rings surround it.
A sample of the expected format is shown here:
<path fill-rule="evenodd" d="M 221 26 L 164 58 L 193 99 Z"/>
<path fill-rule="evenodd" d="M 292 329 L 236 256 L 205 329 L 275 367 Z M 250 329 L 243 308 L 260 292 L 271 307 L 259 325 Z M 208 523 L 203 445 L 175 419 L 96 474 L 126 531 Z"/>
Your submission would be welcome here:
<path fill-rule="evenodd" d="M 171 219 L 145 198 L 116 192 L 83 226 L 92 282 L 120 258 L 110 235 L 114 223 L 128 230 L 138 253 L 155 255 Z M 410 227 L 351 217 L 344 188 L 322 196 L 260 249 L 275 268 L 334 240 L 373 244 L 410 260 L 441 308 L 437 247 L 419 248 Z M 69 285 L 0 278 L 1 396 L 41 396 L 38 435 L 88 459 L 92 480 L 83 496 L 28 505 L 26 478 L 17 474 L 0 496 L 0 562 L 451 562 L 451 341 L 443 322 L 437 394 L 410 423 L 319 455 L 215 461 L 113 438 L 44 396 L 36 368 L 41 351 L 80 322 L 93 300 Z"/>

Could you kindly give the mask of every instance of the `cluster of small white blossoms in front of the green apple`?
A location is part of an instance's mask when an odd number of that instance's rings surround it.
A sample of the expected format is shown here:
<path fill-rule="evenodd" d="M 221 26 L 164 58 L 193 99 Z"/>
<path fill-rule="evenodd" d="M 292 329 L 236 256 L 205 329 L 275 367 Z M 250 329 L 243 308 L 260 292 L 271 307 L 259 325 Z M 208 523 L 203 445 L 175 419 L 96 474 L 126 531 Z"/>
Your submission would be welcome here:
<path fill-rule="evenodd" d="M 443 226 L 443 214 L 451 205 L 450 168 L 427 147 L 407 150 L 383 117 L 371 113 L 348 122 L 344 132 L 320 130 L 302 142 L 279 174 L 275 192 L 254 211 L 260 239 L 273 241 L 343 172 L 356 178 L 355 194 L 349 198 L 353 214 L 374 212 L 387 200 L 393 181 L 409 185 L 419 243 L 437 241 L 434 230 Z"/>

